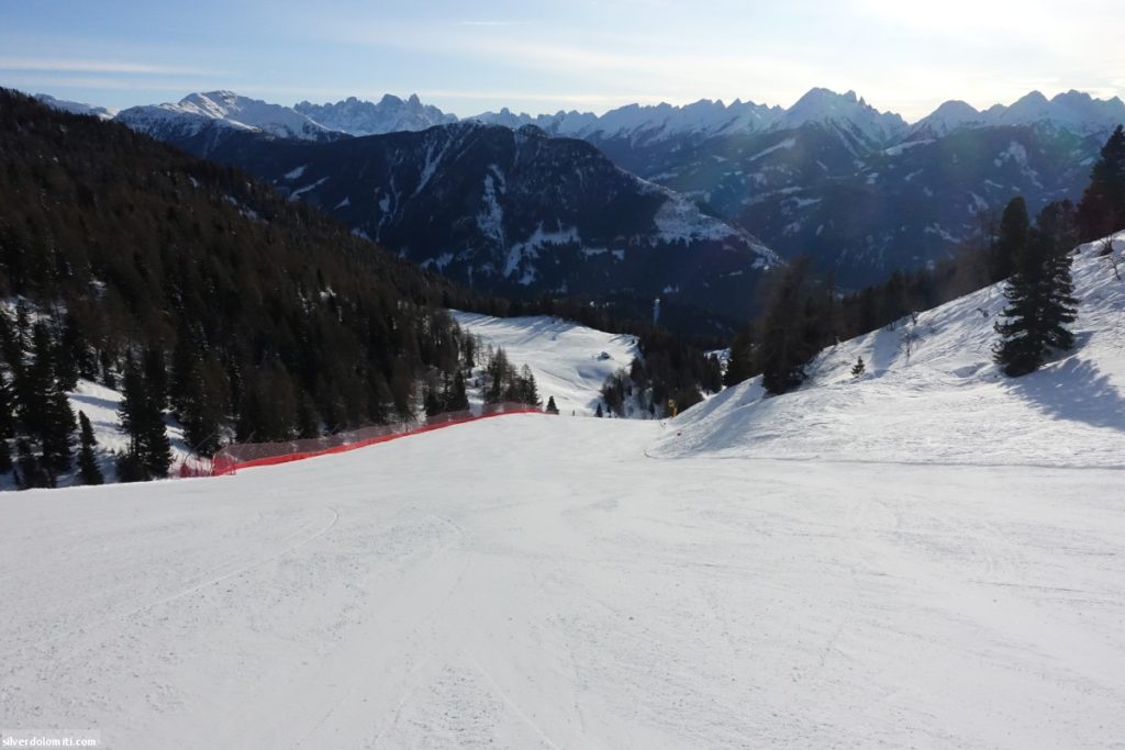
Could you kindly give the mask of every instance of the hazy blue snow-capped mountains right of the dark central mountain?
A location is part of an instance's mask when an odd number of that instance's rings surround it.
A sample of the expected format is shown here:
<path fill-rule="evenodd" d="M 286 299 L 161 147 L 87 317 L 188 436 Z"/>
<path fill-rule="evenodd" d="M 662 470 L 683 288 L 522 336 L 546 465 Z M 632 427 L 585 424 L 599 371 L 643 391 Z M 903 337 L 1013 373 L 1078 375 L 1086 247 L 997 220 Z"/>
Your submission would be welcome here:
<path fill-rule="evenodd" d="M 1077 200 L 1117 99 L 1032 93 L 980 112 L 951 101 L 912 127 L 814 90 L 760 129 L 584 136 L 616 164 L 706 205 L 783 256 L 861 287 L 946 256 L 1015 196 Z"/>

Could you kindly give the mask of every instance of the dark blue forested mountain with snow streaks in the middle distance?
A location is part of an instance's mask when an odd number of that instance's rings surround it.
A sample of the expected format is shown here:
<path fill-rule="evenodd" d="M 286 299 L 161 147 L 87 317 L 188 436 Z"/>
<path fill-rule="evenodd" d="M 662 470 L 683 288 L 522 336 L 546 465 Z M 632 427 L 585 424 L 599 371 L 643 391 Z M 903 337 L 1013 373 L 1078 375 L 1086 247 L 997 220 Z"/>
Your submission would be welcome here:
<path fill-rule="evenodd" d="M 208 147 L 408 260 L 490 292 L 678 295 L 673 302 L 744 317 L 758 272 L 777 262 L 684 196 L 532 126 L 468 121 L 320 144 L 232 134 Z"/>

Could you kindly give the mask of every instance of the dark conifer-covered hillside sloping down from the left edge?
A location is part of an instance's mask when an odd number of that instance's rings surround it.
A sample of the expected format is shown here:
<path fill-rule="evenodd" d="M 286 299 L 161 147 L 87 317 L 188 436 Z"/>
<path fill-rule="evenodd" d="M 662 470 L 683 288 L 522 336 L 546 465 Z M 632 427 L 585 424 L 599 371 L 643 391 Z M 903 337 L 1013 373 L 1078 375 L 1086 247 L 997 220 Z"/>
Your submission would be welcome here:
<path fill-rule="evenodd" d="M 457 368 L 457 288 L 236 169 L 0 90 L 0 175 L 9 378 L 43 320 L 84 378 L 155 358 L 214 445 L 390 419 Z"/>

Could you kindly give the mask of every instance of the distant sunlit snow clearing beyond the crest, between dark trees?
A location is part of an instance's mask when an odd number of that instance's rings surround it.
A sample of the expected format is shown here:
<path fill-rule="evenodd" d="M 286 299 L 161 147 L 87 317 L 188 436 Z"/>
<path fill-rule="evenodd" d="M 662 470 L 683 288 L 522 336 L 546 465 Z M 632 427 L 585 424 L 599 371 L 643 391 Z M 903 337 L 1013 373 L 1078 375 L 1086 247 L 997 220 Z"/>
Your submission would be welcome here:
<path fill-rule="evenodd" d="M 543 404 L 551 396 L 565 415 L 591 415 L 602 400 L 602 386 L 618 370 L 629 370 L 639 354 L 636 336 L 605 333 L 552 318 L 495 318 L 450 310 L 458 325 L 485 345 L 503 347 L 516 367 L 536 377 Z"/>

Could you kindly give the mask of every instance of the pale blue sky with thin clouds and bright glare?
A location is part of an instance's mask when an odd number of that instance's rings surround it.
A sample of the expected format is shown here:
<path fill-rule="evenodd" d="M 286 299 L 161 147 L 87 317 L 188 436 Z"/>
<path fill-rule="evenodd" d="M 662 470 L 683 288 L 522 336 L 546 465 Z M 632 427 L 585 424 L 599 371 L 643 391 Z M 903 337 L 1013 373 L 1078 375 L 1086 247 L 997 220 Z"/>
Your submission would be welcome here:
<path fill-rule="evenodd" d="M 1119 0 L 0 0 L 0 85 L 120 109 L 230 89 L 417 93 L 459 116 L 854 90 L 914 121 L 1032 90 L 1125 98 Z"/>

